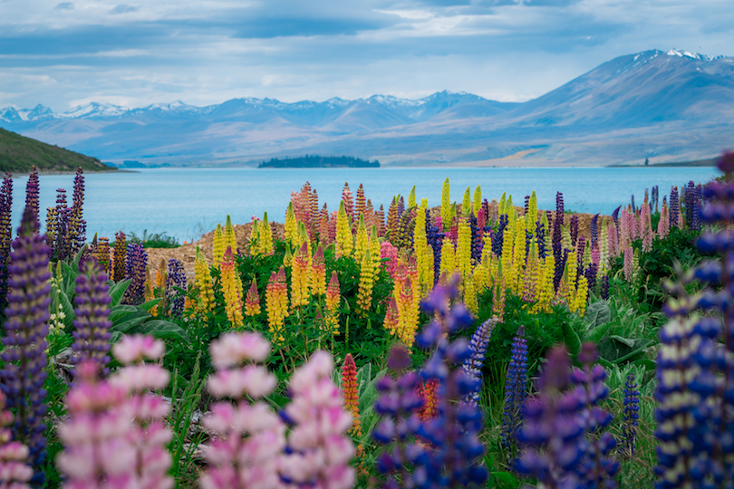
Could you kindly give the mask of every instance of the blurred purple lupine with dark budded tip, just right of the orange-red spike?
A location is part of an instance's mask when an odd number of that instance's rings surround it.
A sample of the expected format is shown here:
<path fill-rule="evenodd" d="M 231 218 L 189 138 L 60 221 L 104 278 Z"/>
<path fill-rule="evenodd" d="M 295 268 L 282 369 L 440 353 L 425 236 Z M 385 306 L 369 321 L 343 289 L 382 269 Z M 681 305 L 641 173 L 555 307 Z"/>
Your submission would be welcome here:
<path fill-rule="evenodd" d="M 420 429 L 416 412 L 423 403 L 415 391 L 418 374 L 405 372 L 410 367 L 410 351 L 400 343 L 391 348 L 387 367 L 389 373 L 375 384 L 379 398 L 374 410 L 380 421 L 372 430 L 372 438 L 392 446 L 378 456 L 376 468 L 387 475 L 385 487 L 410 487 L 413 481 L 425 479 L 427 472 L 425 449 L 415 439 Z M 411 466 L 415 467 L 413 473 Z"/>

